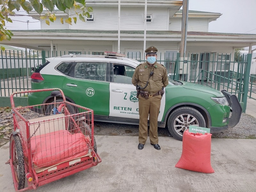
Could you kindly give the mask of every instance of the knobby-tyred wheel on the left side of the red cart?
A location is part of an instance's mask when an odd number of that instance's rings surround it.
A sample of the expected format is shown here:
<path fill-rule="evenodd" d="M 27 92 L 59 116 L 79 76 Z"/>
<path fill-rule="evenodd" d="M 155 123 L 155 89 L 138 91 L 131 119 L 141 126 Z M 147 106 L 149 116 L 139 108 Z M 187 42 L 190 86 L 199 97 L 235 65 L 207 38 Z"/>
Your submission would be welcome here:
<path fill-rule="evenodd" d="M 25 165 L 24 154 L 21 146 L 19 135 L 12 135 L 10 140 L 10 157 L 12 159 L 15 178 L 13 177 L 14 187 L 17 186 L 18 190 L 25 187 Z"/>

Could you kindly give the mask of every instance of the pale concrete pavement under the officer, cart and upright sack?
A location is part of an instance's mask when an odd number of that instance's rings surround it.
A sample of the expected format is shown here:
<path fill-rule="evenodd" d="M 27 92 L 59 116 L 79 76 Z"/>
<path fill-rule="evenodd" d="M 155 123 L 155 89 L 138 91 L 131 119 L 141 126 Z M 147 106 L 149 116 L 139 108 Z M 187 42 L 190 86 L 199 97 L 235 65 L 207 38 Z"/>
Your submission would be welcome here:
<path fill-rule="evenodd" d="M 150 145 L 138 150 L 135 136 L 95 136 L 102 162 L 95 167 L 39 187 L 36 192 L 254 192 L 256 140 L 212 139 L 211 164 L 215 173 L 175 168 L 182 142 L 159 137 L 161 150 Z M 0 148 L 0 191 L 14 191 L 9 146 Z M 33 190 L 32 190 L 33 191 Z"/>

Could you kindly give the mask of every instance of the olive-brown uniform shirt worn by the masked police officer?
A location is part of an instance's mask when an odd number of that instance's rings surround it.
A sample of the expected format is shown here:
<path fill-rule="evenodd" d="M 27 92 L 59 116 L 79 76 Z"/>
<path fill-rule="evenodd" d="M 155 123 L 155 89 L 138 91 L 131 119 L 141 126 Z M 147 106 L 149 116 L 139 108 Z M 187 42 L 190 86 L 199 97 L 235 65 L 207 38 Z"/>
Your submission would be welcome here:
<path fill-rule="evenodd" d="M 150 72 L 154 71 L 153 76 L 151 76 L 148 80 Z M 148 81 L 148 86 L 146 86 Z M 154 63 L 153 66 L 150 66 L 148 62 L 139 64 L 132 76 L 132 84 L 136 86 L 137 84 L 140 87 L 145 87 L 144 89 L 140 89 L 142 91 L 147 91 L 150 95 L 155 94 L 158 91 L 162 90 L 162 87 L 166 87 L 168 85 L 168 76 L 166 68 L 160 63 Z"/>

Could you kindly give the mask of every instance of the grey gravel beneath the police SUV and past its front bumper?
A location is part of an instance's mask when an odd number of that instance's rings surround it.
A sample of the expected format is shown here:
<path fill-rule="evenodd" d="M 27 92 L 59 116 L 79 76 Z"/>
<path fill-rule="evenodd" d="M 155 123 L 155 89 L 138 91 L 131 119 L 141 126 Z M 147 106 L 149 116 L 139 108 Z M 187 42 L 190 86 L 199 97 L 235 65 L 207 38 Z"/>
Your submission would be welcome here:
<path fill-rule="evenodd" d="M 94 134 L 139 136 L 139 126 L 94 122 Z M 167 128 L 158 128 L 158 136 L 171 137 L 171 134 Z M 224 132 L 212 133 L 212 138 L 256 139 L 256 118 L 243 113 L 235 127 Z"/>

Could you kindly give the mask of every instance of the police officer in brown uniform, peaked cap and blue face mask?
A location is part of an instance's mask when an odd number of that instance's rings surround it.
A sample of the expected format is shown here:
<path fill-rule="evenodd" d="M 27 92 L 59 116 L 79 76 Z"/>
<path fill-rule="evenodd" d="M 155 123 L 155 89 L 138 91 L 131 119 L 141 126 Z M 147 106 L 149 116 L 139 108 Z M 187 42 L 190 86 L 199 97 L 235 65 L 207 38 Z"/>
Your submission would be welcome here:
<path fill-rule="evenodd" d="M 149 139 L 155 149 L 158 145 L 157 118 L 159 114 L 164 87 L 168 85 L 166 68 L 156 62 L 157 48 L 150 46 L 145 50 L 147 62 L 139 64 L 132 76 L 132 84 L 136 86 L 139 98 L 139 145 L 143 149 L 148 138 L 149 114 Z"/>

